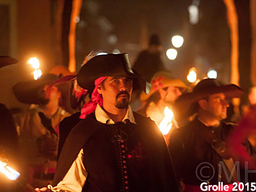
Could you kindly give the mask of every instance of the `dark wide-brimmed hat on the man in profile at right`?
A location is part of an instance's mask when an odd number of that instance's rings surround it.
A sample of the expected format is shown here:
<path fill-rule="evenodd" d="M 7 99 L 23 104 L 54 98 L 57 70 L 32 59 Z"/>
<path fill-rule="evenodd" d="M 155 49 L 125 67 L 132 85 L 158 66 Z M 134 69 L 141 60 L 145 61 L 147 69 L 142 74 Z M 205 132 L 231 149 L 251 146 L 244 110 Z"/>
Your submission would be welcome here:
<path fill-rule="evenodd" d="M 197 102 L 200 99 L 216 93 L 224 93 L 225 98 L 241 97 L 244 91 L 236 84 L 223 85 L 216 79 L 204 79 L 196 84 L 193 92 L 185 93 L 175 101 L 173 113 L 176 120 L 186 119 L 196 113 Z"/>

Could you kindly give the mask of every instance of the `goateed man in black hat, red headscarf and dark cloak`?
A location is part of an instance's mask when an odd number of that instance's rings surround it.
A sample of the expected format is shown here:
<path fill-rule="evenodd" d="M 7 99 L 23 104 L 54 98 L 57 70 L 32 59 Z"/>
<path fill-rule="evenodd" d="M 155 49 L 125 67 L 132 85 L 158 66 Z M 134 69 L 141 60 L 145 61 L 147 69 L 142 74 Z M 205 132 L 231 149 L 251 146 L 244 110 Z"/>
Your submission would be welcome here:
<path fill-rule="evenodd" d="M 77 83 L 92 99 L 65 141 L 51 191 L 178 191 L 172 159 L 157 125 L 129 102 L 146 82 L 127 54 L 91 58 Z M 36 189 L 37 191 L 46 191 Z"/>

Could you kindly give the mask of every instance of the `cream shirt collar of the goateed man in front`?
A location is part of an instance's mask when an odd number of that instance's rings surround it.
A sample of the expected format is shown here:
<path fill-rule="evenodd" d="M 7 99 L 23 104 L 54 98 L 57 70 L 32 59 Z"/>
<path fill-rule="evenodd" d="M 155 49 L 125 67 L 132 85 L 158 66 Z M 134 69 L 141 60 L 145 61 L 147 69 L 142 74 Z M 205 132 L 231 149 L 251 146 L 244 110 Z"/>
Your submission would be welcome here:
<path fill-rule="evenodd" d="M 108 114 L 99 106 L 99 104 L 97 104 L 97 107 L 95 109 L 95 117 L 97 119 L 98 122 L 102 123 L 102 124 L 115 124 L 115 122 L 108 116 Z M 126 123 L 125 120 L 130 120 L 130 122 L 132 124 L 136 124 L 134 116 L 133 116 L 133 112 L 131 107 L 129 106 L 126 114 L 122 120 L 122 122 Z"/>

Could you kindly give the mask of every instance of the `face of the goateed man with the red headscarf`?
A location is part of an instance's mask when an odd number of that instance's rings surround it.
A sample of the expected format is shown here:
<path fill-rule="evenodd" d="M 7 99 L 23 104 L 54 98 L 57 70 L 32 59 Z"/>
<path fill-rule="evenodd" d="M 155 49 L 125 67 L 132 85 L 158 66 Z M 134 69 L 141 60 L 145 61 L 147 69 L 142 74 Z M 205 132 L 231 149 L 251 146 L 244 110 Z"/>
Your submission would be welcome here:
<path fill-rule="evenodd" d="M 98 92 L 102 94 L 103 106 L 126 109 L 131 101 L 132 78 L 107 77 L 104 86 L 99 86 Z"/>

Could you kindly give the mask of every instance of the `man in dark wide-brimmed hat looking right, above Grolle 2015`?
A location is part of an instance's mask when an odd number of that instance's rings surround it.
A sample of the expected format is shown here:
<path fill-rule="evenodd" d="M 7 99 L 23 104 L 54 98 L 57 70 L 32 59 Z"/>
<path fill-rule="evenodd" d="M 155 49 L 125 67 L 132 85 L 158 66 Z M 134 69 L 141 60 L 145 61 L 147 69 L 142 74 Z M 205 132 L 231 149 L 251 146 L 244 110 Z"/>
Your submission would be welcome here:
<path fill-rule="evenodd" d="M 176 100 L 177 120 L 197 113 L 195 120 L 172 132 L 169 145 L 177 177 L 186 184 L 186 191 L 201 191 L 202 182 L 232 186 L 239 180 L 241 170 L 234 166 L 237 159 L 230 156 L 225 144 L 234 126 L 222 120 L 227 118 L 226 100 L 242 94 L 235 84 L 221 85 L 216 79 L 204 79 L 193 92 Z M 246 140 L 244 145 L 252 155 L 250 143 Z"/>

